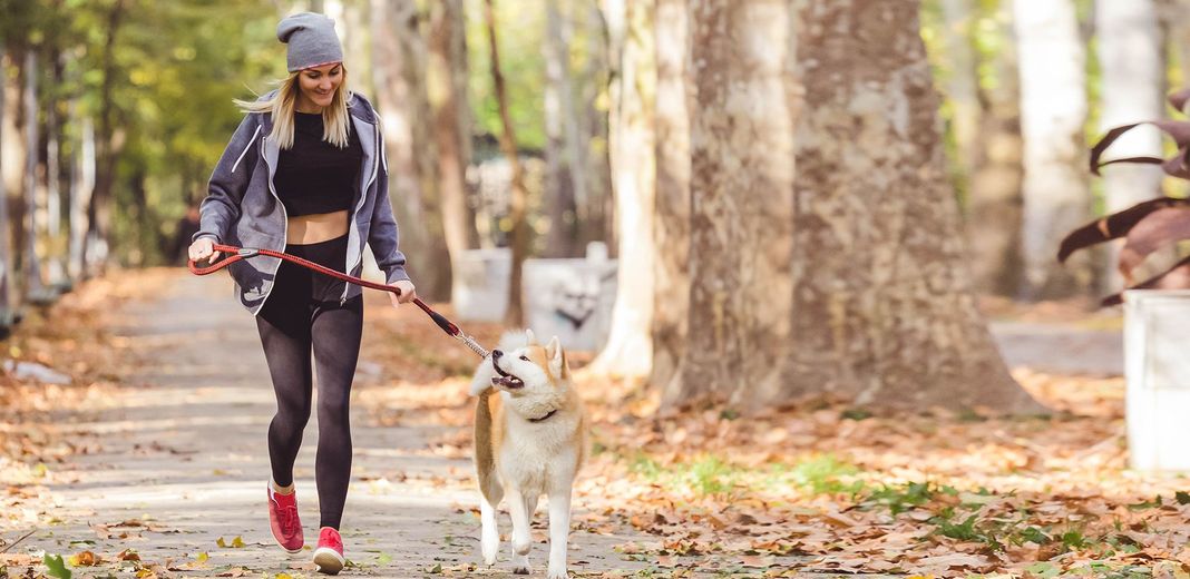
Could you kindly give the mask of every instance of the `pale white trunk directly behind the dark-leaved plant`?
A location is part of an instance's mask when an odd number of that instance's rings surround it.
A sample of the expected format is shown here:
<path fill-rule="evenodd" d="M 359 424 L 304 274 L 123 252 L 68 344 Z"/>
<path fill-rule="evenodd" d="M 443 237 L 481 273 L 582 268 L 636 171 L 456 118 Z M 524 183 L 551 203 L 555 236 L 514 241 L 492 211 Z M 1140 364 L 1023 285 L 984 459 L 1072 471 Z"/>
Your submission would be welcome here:
<path fill-rule="evenodd" d="M 1141 120 L 1160 119 L 1165 113 L 1165 58 L 1153 0 L 1097 0 L 1095 27 L 1102 74 L 1103 107 L 1100 130 Z M 1110 158 L 1163 157 L 1161 137 L 1155 127 L 1129 131 L 1111 145 Z M 1115 213 L 1161 195 L 1164 174 L 1157 165 L 1122 163 L 1103 168 L 1107 210 Z M 1115 263 L 1119 245 L 1109 248 Z M 1114 266 L 1106 268 L 1104 292 L 1122 289 L 1123 278 Z"/>

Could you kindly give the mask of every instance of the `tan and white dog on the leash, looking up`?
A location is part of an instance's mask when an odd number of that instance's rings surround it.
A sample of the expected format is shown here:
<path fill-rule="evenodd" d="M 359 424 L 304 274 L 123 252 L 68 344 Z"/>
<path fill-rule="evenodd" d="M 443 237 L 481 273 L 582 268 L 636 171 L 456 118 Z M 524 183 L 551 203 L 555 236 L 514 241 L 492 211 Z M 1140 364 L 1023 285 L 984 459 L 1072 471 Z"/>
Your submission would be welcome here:
<path fill-rule="evenodd" d="M 587 458 L 587 416 L 558 338 L 541 346 L 532 332 L 509 333 L 471 382 L 475 472 L 480 483 L 483 562 L 500 547 L 496 506 L 513 520 L 513 572 L 528 574 L 530 521 L 541 495 L 550 505 L 549 578 L 566 575 L 570 496 Z"/>

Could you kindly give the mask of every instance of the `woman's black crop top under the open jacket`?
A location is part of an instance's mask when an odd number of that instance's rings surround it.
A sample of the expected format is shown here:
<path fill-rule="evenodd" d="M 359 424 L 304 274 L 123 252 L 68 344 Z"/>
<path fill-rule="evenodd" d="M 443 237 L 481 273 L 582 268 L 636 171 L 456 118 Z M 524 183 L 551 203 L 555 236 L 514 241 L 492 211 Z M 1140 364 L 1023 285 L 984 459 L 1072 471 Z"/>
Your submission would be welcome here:
<path fill-rule="evenodd" d="M 282 149 L 273 184 L 286 206 L 286 215 L 309 215 L 351 210 L 359 189 L 359 165 L 364 152 L 347 121 L 347 146 L 322 140 L 321 113 L 294 112 L 294 146 Z"/>

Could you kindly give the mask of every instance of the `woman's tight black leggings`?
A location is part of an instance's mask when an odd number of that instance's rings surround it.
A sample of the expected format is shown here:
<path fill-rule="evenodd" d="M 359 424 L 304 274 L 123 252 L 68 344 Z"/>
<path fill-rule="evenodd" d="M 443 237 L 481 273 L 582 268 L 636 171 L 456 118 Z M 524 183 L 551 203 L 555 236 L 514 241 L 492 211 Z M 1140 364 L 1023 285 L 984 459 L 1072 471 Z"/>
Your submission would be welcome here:
<path fill-rule="evenodd" d="M 287 245 L 286 253 L 344 271 L 347 237 Z M 256 326 L 277 395 L 269 423 L 273 480 L 293 483 L 293 466 L 311 411 L 311 351 L 318 369 L 318 454 L 314 480 L 321 510 L 319 527 L 339 528 L 351 478 L 351 422 L 347 403 L 359 359 L 363 296 L 340 304 L 345 282 L 282 260 Z"/>

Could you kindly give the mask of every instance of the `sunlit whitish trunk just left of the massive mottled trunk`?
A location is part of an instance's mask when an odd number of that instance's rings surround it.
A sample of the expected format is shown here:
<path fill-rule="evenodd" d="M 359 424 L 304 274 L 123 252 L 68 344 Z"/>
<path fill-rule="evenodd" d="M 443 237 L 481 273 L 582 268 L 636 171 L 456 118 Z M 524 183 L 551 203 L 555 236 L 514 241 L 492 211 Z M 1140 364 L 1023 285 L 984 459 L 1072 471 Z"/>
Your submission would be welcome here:
<path fill-rule="evenodd" d="M 591 363 L 595 373 L 645 378 L 652 360 L 653 317 L 653 55 L 652 2 L 607 2 L 619 74 L 612 87 L 610 155 L 614 176 L 618 276 L 607 344 Z M 622 11 L 610 14 L 610 11 Z"/>

